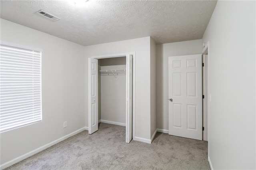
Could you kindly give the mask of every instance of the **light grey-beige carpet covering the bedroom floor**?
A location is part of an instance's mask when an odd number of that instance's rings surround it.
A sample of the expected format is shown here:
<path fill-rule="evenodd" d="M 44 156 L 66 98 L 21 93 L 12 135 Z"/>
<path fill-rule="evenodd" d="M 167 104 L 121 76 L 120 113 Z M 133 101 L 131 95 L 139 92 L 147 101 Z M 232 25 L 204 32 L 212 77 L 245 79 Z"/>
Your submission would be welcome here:
<path fill-rule="evenodd" d="M 6 170 L 208 170 L 208 143 L 157 132 L 152 144 L 125 143 L 125 127 L 100 123 Z"/>

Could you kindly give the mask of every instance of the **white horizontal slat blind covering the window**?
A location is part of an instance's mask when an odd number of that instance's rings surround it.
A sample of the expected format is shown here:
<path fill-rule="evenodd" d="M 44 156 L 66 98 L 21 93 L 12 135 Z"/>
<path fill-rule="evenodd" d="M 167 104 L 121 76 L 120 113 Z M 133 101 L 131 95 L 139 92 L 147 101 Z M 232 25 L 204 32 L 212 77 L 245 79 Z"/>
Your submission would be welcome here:
<path fill-rule="evenodd" d="M 0 132 L 38 121 L 41 52 L 0 45 Z"/>

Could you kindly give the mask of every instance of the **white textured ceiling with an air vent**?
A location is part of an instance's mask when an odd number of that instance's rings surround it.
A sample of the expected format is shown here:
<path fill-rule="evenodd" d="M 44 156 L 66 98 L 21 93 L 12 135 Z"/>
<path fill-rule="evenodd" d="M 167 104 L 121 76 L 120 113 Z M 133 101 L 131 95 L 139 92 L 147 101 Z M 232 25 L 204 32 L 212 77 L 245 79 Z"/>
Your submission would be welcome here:
<path fill-rule="evenodd" d="M 212 0 L 1 0 L 0 17 L 81 45 L 151 36 L 156 43 L 201 39 L 216 1 Z M 35 14 L 44 10 L 53 22 Z"/>

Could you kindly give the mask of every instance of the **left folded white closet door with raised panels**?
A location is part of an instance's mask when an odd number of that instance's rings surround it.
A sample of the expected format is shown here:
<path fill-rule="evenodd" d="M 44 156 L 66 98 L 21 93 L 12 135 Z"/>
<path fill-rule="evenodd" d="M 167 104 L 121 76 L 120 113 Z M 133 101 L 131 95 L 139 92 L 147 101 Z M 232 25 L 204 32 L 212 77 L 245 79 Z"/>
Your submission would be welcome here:
<path fill-rule="evenodd" d="M 98 60 L 89 58 L 89 134 L 98 130 Z"/>

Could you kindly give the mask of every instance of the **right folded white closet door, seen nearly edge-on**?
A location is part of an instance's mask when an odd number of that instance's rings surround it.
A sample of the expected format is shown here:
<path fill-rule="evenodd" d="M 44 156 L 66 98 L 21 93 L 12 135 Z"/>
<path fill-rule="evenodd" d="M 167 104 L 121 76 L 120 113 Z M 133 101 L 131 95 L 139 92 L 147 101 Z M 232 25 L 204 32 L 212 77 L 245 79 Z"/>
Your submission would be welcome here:
<path fill-rule="evenodd" d="M 132 140 L 132 55 L 126 55 L 126 143 Z"/>

